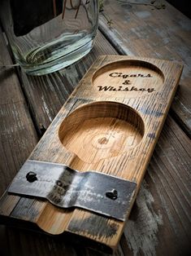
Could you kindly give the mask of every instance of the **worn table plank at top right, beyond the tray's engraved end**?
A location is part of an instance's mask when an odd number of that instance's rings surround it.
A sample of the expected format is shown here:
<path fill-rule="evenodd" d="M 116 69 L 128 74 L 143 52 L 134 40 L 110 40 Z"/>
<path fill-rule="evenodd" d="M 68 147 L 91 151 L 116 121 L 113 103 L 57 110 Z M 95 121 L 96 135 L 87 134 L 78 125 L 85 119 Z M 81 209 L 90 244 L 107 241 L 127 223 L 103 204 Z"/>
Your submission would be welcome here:
<path fill-rule="evenodd" d="M 132 1 L 133 2 L 133 1 Z M 137 3 L 142 3 L 138 0 Z M 150 3 L 149 0 L 144 3 Z M 161 1 L 154 2 L 159 5 Z M 178 60 L 184 63 L 180 88 L 172 104 L 177 121 L 191 135 L 191 21 L 163 1 L 165 9 L 156 9 L 131 1 L 104 1 L 99 28 L 122 55 Z"/>

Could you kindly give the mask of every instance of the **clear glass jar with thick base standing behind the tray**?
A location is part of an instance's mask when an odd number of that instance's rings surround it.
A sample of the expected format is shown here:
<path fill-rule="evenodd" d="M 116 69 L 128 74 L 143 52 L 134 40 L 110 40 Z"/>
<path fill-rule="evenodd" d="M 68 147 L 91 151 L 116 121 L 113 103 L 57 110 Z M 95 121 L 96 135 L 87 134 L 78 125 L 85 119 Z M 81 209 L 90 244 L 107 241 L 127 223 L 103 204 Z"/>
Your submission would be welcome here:
<path fill-rule="evenodd" d="M 93 47 L 97 0 L 2 0 L 0 9 L 15 60 L 28 74 L 67 67 Z"/>

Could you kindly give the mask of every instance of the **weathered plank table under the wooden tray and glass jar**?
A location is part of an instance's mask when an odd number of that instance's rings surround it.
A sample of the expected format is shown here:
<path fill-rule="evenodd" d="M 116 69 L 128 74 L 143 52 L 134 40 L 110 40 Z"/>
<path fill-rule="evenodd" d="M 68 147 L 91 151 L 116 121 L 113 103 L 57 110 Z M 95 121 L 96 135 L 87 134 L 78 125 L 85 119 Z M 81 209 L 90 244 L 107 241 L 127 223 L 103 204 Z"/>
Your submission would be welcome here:
<path fill-rule="evenodd" d="M 115 255 L 189 255 L 191 251 L 191 21 L 165 8 L 104 1 L 93 51 L 72 66 L 41 77 L 0 69 L 0 193 L 98 55 L 137 55 L 184 64 L 180 86 L 158 139 Z M 144 1 L 150 3 L 150 1 Z M 12 64 L 0 30 L 0 64 Z M 28 210 L 27 205 L 22 207 Z M 12 213 L 14 214 L 14 213 Z M 0 226 L 1 255 L 105 255 L 62 237 Z"/>

